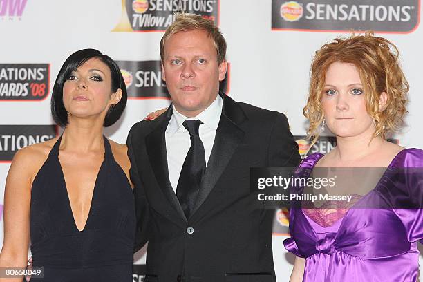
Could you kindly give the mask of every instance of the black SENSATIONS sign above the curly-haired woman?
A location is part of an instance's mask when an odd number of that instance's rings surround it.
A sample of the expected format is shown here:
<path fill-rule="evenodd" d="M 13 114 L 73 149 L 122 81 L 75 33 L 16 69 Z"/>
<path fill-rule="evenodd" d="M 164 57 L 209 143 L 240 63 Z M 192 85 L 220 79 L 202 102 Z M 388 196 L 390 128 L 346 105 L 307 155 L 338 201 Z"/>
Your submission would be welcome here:
<path fill-rule="evenodd" d="M 314 0 L 272 2 L 274 30 L 412 32 L 420 0 Z"/>

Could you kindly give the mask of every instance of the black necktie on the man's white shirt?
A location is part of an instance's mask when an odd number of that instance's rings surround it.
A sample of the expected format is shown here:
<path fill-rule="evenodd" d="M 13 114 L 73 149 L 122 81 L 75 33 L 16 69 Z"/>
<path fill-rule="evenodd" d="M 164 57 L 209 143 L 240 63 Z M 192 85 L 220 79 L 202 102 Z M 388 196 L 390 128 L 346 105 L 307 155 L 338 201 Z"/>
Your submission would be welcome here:
<path fill-rule="evenodd" d="M 180 171 L 176 196 L 187 218 L 189 218 L 192 209 L 194 209 L 205 171 L 204 146 L 200 135 L 198 135 L 200 124 L 203 124 L 200 120 L 185 120 L 182 123 L 189 132 L 191 147 L 189 147 L 182 165 L 182 171 Z"/>

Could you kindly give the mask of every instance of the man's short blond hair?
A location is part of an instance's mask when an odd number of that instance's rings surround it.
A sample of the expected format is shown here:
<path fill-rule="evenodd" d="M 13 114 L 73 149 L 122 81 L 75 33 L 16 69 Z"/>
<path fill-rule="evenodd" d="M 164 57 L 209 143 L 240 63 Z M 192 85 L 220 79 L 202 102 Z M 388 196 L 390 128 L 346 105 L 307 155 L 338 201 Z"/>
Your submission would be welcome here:
<path fill-rule="evenodd" d="M 207 35 L 213 40 L 214 46 L 216 47 L 218 64 L 225 60 L 226 55 L 226 41 L 220 32 L 219 28 L 214 25 L 213 21 L 204 19 L 201 16 L 189 14 L 189 13 L 178 13 L 176 14 L 176 20 L 166 29 L 162 39 L 160 40 L 160 57 L 164 62 L 164 45 L 167 39 L 178 32 L 192 31 L 192 30 L 204 30 Z"/>

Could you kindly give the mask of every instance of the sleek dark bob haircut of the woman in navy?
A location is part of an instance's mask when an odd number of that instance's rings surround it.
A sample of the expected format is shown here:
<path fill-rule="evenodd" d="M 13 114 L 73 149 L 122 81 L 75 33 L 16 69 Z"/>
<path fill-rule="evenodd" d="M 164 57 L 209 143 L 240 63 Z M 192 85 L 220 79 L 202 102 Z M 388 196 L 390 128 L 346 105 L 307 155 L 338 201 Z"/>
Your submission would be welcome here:
<path fill-rule="evenodd" d="M 111 126 L 116 121 L 119 120 L 122 115 L 125 106 L 126 100 L 128 100 L 128 94 L 126 93 L 126 86 L 122 73 L 118 64 L 107 55 L 103 55 L 99 50 L 95 49 L 83 49 L 76 51 L 71 56 L 66 59 L 62 68 L 60 68 L 59 75 L 53 86 L 53 93 L 51 95 L 51 114 L 53 119 L 59 126 L 66 126 L 68 124 L 68 112 L 66 111 L 63 104 L 63 86 L 68 77 L 76 71 L 79 66 L 82 66 L 88 59 L 97 58 L 100 59 L 104 64 L 109 66 L 111 73 L 111 91 L 115 93 L 118 89 L 122 90 L 122 98 L 118 104 L 111 105 L 109 111 L 106 113 L 106 118 L 104 118 L 104 126 Z"/>

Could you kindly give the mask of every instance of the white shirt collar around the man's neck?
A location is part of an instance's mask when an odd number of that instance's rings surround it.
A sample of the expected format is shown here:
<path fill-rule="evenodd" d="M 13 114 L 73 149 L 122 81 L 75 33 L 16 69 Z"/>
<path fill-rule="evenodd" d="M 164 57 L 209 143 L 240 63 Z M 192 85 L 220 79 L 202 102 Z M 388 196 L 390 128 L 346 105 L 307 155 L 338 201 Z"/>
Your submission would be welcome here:
<path fill-rule="evenodd" d="M 182 113 L 179 113 L 175 109 L 175 105 L 172 104 L 173 114 L 167 126 L 166 133 L 173 135 L 177 131 L 187 131 L 182 123 L 185 120 L 201 120 L 203 124 L 211 129 L 216 130 L 220 121 L 220 115 L 222 114 L 223 99 L 220 95 L 217 95 L 216 99 L 207 107 L 204 111 L 199 113 L 196 117 L 188 118 Z"/>

